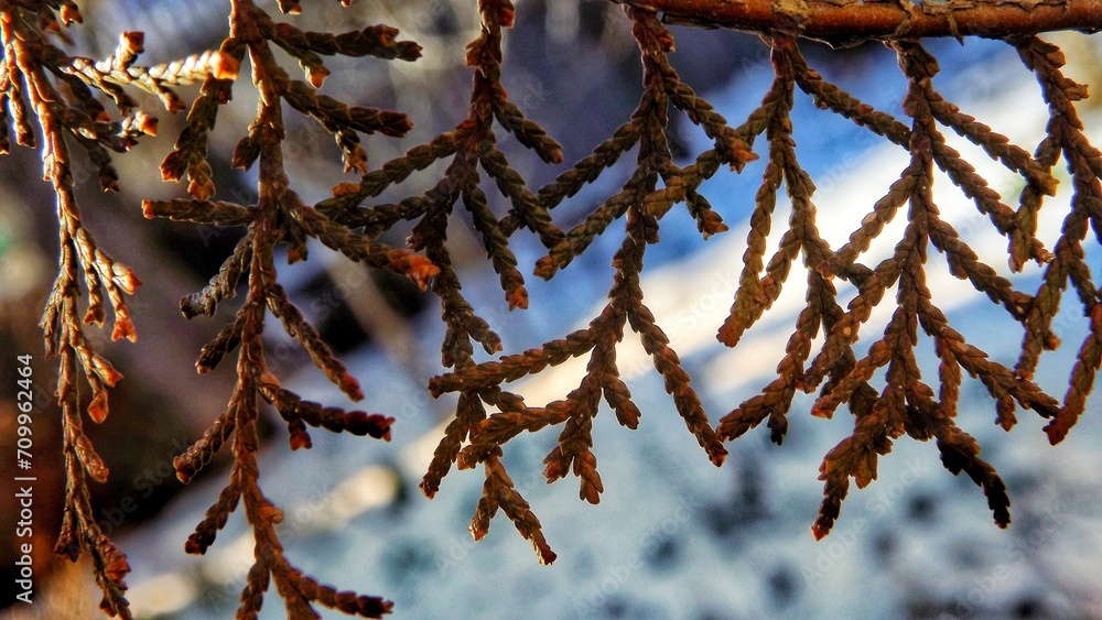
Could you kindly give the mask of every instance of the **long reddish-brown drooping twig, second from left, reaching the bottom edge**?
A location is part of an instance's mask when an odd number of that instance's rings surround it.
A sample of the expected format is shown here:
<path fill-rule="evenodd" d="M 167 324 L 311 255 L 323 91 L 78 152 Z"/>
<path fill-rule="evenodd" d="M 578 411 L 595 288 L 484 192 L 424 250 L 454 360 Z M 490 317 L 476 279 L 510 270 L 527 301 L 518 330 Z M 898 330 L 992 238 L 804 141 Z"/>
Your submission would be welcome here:
<path fill-rule="evenodd" d="M 281 8 L 291 10 L 292 3 Z M 216 188 L 207 162 L 207 132 L 214 126 L 218 106 L 228 100 L 231 80 L 212 76 L 203 85 L 199 99 L 192 106 L 188 124 L 165 157 L 162 173 L 165 180 L 190 177 L 191 199 L 147 200 L 145 217 L 164 217 L 216 226 L 247 226 L 248 231 L 218 274 L 199 293 L 185 297 L 181 309 L 188 318 L 199 314 L 210 316 L 219 303 L 235 296 L 238 281 L 246 273 L 248 294 L 236 319 L 227 325 L 199 355 L 196 368 L 207 372 L 228 353 L 238 351 L 237 385 L 226 411 L 204 436 L 174 460 L 177 477 L 190 481 L 219 448 L 230 444 L 234 465 L 229 483 L 218 501 L 207 511 L 185 546 L 188 553 L 205 553 L 214 543 L 230 513 L 239 503 L 252 527 L 255 564 L 241 592 L 239 618 L 255 618 L 260 611 L 263 594 L 274 581 L 290 618 L 317 617 L 312 605 L 320 603 L 345 613 L 378 618 L 390 612 L 392 603 L 379 597 L 337 591 L 320 585 L 292 566 L 283 555 L 276 525 L 282 512 L 260 489 L 257 450 L 257 417 L 261 400 L 271 404 L 287 422 L 291 449 L 310 448 L 307 426 L 323 427 L 334 433 L 370 435 L 390 438 L 393 418 L 361 411 L 346 412 L 304 401 L 280 387 L 268 372 L 262 334 L 268 312 L 279 319 L 284 331 L 310 355 L 311 360 L 350 400 L 364 394 L 358 381 L 322 341 L 278 282 L 276 246 L 288 244 L 288 261 L 306 260 L 307 239 L 344 254 L 353 261 L 404 274 L 422 289 L 440 270 L 429 259 L 408 250 L 382 246 L 372 237 L 356 233 L 306 206 L 290 188 L 283 162 L 284 124 L 282 104 L 317 120 L 332 133 L 342 150 L 346 171 L 366 172 L 367 154 L 359 144 L 360 133 L 402 135 L 411 127 L 404 115 L 375 108 L 349 106 L 321 95 L 328 75 L 321 55 L 371 55 L 380 58 L 415 59 L 420 47 L 409 41 L 398 41 L 398 31 L 389 26 L 371 26 L 343 35 L 304 32 L 289 23 L 277 23 L 251 0 L 235 0 L 230 13 L 230 33 L 223 42 L 223 54 L 241 61 L 248 55 L 252 65 L 252 86 L 260 96 L 257 117 L 234 151 L 233 164 L 247 170 L 258 167 L 257 195 L 252 205 L 212 202 Z M 292 79 L 272 53 L 277 45 L 299 59 L 306 81 Z"/>

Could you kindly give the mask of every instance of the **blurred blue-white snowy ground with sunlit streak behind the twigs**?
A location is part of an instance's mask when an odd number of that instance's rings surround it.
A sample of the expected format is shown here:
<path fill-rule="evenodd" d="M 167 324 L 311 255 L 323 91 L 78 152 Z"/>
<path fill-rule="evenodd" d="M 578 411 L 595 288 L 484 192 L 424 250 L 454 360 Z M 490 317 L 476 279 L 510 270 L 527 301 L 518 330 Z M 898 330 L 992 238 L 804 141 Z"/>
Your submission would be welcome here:
<path fill-rule="evenodd" d="M 962 52 L 939 51 L 947 77 L 936 84 L 950 100 L 1027 149 L 1037 143 L 1045 123 L 1042 102 L 1009 48 L 969 41 Z M 983 62 L 950 70 L 966 56 L 982 56 Z M 900 96 L 900 84 L 887 77 L 895 75 L 893 64 L 885 53 L 875 67 L 887 86 L 855 94 L 875 105 L 893 105 Z M 768 69 L 747 72 L 737 90 L 707 95 L 719 110 L 741 109 L 747 97 L 760 98 Z M 831 124 L 807 97 L 797 98 L 799 153 L 806 154 L 806 166 L 820 186 L 820 229 L 836 247 L 897 177 L 907 154 L 876 140 L 854 140 L 860 134 Z M 1102 127 L 1102 118 L 1092 119 L 1088 127 Z M 820 134 L 819 127 L 843 129 Z M 706 148 L 700 138 L 694 137 L 693 149 Z M 1102 144 L 1102 133 L 1095 131 L 1092 139 Z M 1015 187 L 1006 174 L 960 142 L 952 143 L 1013 200 Z M 764 141 L 758 144 L 763 148 Z M 700 249 L 691 254 L 649 260 L 644 276 L 647 303 L 693 374 L 713 421 L 771 380 L 801 307 L 801 279 L 793 275 L 785 295 L 736 349 L 714 339 L 742 269 L 745 218 L 759 175 L 760 167 L 741 177 L 721 173 L 722 178 L 706 185 L 704 194 L 732 230 L 706 243 L 696 241 Z M 947 178 L 936 187 L 943 216 L 985 262 L 1008 271 L 1005 240 L 990 231 L 986 218 Z M 1058 235 L 1067 189 L 1045 211 L 1040 236 L 1049 244 Z M 776 221 L 784 220 L 786 209 L 780 202 Z M 668 217 L 670 238 L 682 235 L 676 228 L 695 235 L 683 214 Z M 873 254 L 890 249 L 898 239 L 893 231 L 899 230 L 890 227 Z M 1102 253 L 1096 244 L 1088 246 L 1088 260 L 1098 270 Z M 568 271 L 606 264 L 611 254 L 601 254 L 603 249 L 596 243 L 594 257 Z M 594 272 L 584 279 L 588 289 L 579 289 L 576 273 L 532 283 L 532 311 L 494 315 L 498 322 L 491 318 L 491 324 L 501 327 L 506 351 L 537 346 L 592 318 L 609 281 L 607 268 Z M 1102 270 L 1094 273 L 1102 275 Z M 953 279 L 934 252 L 928 274 L 934 303 L 950 322 L 993 359 L 1013 365 L 1020 342 L 1013 323 L 968 283 Z M 575 278 L 568 284 L 570 275 Z M 472 274 L 465 290 L 473 297 L 499 300 L 493 280 Z M 1029 290 L 1037 269 L 1015 281 Z M 1066 346 L 1048 353 L 1038 374 L 1057 396 L 1062 396 L 1084 334 L 1072 300 L 1057 319 Z M 885 301 L 864 333 L 876 334 L 890 308 Z M 425 317 L 418 326 L 430 358 L 440 336 L 433 320 Z M 929 363 L 930 348 L 926 350 L 922 370 L 933 382 L 936 367 Z M 992 523 L 977 487 L 941 467 L 932 444 L 901 438 L 882 460 L 879 479 L 851 491 L 834 531 L 817 543 L 809 527 L 822 493 L 818 467 L 850 433 L 849 415 L 812 420 L 807 415 L 810 399 L 798 398 L 784 447 L 773 446 L 768 433 L 757 429 L 728 445 L 728 463 L 716 469 L 685 432 L 633 335 L 619 351 L 644 417 L 637 432 L 619 427 L 608 412 L 596 420 L 594 452 L 606 488 L 598 505 L 577 501 L 573 478 L 543 483 L 540 461 L 554 433 L 523 436 L 506 448 L 517 487 L 559 554 L 553 566 L 540 566 L 504 518 L 494 521 L 485 541 L 472 542 L 466 526 L 480 493 L 480 471 L 453 471 L 433 501 L 420 494 L 417 483 L 441 435 L 439 414 L 449 403 L 432 401 L 423 378 L 404 376 L 374 348 L 347 361 L 368 391 L 378 390 L 368 394 L 364 407 L 398 417 L 391 444 L 316 432 L 312 450 L 288 454 L 283 440 L 264 449 L 261 485 L 285 511 L 280 535 L 288 557 L 324 583 L 395 600 L 396 618 L 1102 618 L 1102 394 L 1095 394 L 1088 414 L 1054 448 L 1041 432 L 1044 421 L 1031 412 L 1019 412 L 1020 424 L 1006 436 L 993 424 L 994 406 L 982 387 L 966 382 L 959 424 L 980 440 L 984 458 L 1009 487 L 1014 523 L 1008 530 Z M 583 368 L 584 358 L 516 389 L 532 403 L 561 398 L 576 385 Z M 288 387 L 303 398 L 343 402 L 323 383 L 311 368 Z M 182 553 L 183 541 L 224 483 L 224 475 L 204 476 L 156 523 L 120 541 L 134 569 L 130 600 L 140 617 L 231 614 L 251 564 L 251 533 L 242 515 L 235 513 L 206 556 Z M 269 592 L 263 616 L 283 614 L 276 594 Z"/>

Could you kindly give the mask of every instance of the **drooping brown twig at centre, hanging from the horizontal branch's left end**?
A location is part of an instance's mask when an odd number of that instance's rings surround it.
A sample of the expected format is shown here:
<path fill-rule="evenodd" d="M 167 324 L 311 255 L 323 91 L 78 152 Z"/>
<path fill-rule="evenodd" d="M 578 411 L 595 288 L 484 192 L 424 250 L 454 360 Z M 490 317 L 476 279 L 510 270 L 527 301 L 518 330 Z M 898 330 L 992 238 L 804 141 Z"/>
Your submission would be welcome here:
<path fill-rule="evenodd" d="M 628 325 L 641 338 L 644 349 L 653 359 L 655 369 L 661 374 L 667 392 L 673 396 L 674 407 L 712 463 L 721 465 L 727 454 L 690 385 L 689 374 L 681 367 L 678 355 L 670 348 L 669 338 L 642 303 L 639 274 L 642 271 L 646 247 L 658 240 L 659 219 L 674 204 L 687 204 L 705 238 L 726 230 L 722 219 L 696 189 L 721 165 L 727 164 L 733 170 L 742 170 L 756 156 L 739 132 L 728 127 L 711 105 L 696 97 L 670 66 L 667 54 L 673 48 L 673 39 L 658 22 L 655 13 L 636 9 L 628 13 L 644 65 L 644 94 L 639 106 L 631 115 L 631 120 L 622 126 L 613 138 L 538 193 L 539 199 L 551 208 L 575 194 L 585 183 L 593 181 L 601 171 L 638 144 L 635 171 L 620 192 L 591 213 L 583 224 L 549 244 L 548 255 L 536 265 L 537 275 L 545 279 L 554 276 L 614 221 L 624 220 L 627 238 L 613 258 L 616 275 L 608 293 L 608 304 L 590 323 L 587 329 L 561 340 L 545 342 L 543 347 L 526 351 L 521 356 L 507 356 L 498 361 L 477 365 L 457 365 L 453 372 L 436 377 L 429 383 L 434 395 L 458 392 L 460 411 L 436 450 L 422 488 L 431 497 L 453 460 L 457 459 L 461 468 L 483 465 L 487 481 L 484 498 L 472 522 L 472 532 L 476 539 L 485 535 L 489 518 L 496 512 L 501 498 L 522 501 L 515 489 L 509 488 L 506 492 L 501 487 L 508 477 L 499 460 L 503 446 L 522 432 L 534 433 L 547 426 L 561 424 L 559 440 L 543 460 L 543 475 L 549 482 L 553 482 L 573 474 L 580 480 L 579 497 L 590 503 L 599 501 L 604 483 L 597 474 L 597 459 L 592 449 L 592 428 L 601 400 L 604 399 L 613 409 L 617 422 L 628 428 L 636 428 L 641 415 L 638 405 L 631 400 L 631 392 L 619 377 L 616 363 L 616 346 L 624 338 L 624 330 Z M 705 151 L 695 163 L 684 168 L 673 164 L 666 138 L 670 105 L 683 110 L 715 142 L 714 149 Z M 658 187 L 659 180 L 663 184 L 662 188 Z M 548 366 L 557 366 L 571 357 L 586 353 L 590 355 L 586 376 L 564 400 L 554 401 L 544 407 L 528 407 L 520 396 L 500 388 L 505 381 L 539 372 Z M 483 403 L 497 407 L 500 413 L 487 416 Z M 469 442 L 468 445 L 461 448 L 465 440 Z M 514 512 L 505 512 L 514 520 L 521 534 L 532 541 L 541 562 L 550 563 L 554 559 L 554 554 L 547 547 L 539 531 L 539 521 L 530 515 L 527 502 L 522 505 L 518 503 Z M 515 513 L 521 516 L 520 521 L 514 516 Z"/>

